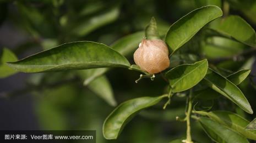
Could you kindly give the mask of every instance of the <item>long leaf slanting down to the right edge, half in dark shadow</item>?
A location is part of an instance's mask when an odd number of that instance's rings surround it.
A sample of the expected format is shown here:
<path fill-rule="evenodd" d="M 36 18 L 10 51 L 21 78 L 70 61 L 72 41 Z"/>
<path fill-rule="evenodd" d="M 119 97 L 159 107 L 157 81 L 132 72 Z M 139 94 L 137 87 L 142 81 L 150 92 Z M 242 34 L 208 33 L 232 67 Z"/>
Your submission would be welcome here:
<path fill-rule="evenodd" d="M 253 110 L 242 91 L 235 84 L 228 81 L 227 78 L 222 77 L 219 73 L 208 68 L 208 72 L 206 73 L 203 82 L 210 88 L 230 99 L 247 113 L 253 113 Z"/>

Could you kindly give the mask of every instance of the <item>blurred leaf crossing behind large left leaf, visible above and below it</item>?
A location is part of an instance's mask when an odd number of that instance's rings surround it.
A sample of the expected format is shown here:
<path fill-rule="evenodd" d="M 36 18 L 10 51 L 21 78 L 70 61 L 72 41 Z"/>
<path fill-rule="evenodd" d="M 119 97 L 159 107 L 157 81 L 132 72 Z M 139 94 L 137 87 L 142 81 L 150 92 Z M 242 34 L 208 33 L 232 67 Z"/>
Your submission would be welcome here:
<path fill-rule="evenodd" d="M 117 52 L 121 53 L 124 56 L 127 56 L 135 51 L 139 47 L 139 43 L 144 37 L 144 31 L 136 32 L 131 35 L 125 36 L 111 45 L 112 49 L 115 49 Z M 83 74 L 88 75 L 85 77 L 84 84 L 89 84 L 95 78 L 103 75 L 107 72 L 108 68 L 96 68 L 90 70 L 83 70 Z"/>

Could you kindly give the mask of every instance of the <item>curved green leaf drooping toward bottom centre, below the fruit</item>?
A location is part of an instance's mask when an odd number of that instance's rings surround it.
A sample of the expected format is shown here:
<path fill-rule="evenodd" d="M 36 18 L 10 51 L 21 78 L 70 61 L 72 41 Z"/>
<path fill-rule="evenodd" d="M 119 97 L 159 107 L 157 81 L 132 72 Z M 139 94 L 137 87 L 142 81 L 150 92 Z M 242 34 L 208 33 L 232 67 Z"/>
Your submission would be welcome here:
<path fill-rule="evenodd" d="M 104 137 L 108 140 L 117 139 L 117 136 L 121 133 L 124 125 L 126 125 L 138 111 L 157 104 L 166 96 L 167 95 L 142 97 L 123 102 L 105 119 L 103 124 Z"/>

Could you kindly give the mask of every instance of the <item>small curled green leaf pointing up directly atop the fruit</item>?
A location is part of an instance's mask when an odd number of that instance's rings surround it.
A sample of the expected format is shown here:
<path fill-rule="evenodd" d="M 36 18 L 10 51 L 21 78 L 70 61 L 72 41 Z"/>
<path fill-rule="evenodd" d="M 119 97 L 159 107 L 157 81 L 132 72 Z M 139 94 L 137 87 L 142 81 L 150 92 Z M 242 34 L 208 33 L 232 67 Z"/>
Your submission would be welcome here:
<path fill-rule="evenodd" d="M 151 18 L 149 25 L 145 29 L 146 39 L 161 39 L 157 31 L 156 20 L 154 17 Z"/>

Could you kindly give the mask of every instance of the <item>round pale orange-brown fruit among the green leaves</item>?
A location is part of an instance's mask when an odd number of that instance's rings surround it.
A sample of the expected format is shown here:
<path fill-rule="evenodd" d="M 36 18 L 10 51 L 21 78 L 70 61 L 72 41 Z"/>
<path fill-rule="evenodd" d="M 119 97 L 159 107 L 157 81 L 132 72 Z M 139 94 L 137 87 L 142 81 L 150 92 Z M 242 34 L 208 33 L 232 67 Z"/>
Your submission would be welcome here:
<path fill-rule="evenodd" d="M 151 75 L 164 71 L 170 66 L 168 48 L 160 39 L 143 39 L 133 54 L 135 64 Z"/>

